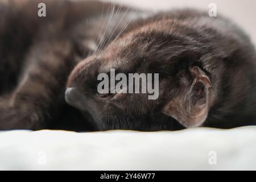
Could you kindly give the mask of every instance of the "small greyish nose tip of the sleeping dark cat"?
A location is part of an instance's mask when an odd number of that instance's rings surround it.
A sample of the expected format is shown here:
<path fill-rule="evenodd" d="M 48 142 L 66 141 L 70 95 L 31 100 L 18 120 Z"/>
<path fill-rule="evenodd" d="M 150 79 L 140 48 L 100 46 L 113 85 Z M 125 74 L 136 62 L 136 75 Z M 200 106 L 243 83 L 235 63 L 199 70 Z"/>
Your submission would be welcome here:
<path fill-rule="evenodd" d="M 65 92 L 65 101 L 74 107 L 77 107 L 78 109 L 81 109 L 82 107 L 82 94 L 79 92 L 76 88 L 67 88 Z"/>

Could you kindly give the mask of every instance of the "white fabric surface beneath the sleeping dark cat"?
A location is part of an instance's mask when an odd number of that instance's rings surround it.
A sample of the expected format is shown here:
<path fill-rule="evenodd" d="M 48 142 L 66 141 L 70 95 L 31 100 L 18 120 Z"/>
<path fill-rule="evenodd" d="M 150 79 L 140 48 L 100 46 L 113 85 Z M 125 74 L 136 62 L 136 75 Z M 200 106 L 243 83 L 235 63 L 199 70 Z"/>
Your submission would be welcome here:
<path fill-rule="evenodd" d="M 211 151 L 217 164 L 209 163 Z M 255 170 L 256 126 L 151 133 L 2 131 L 0 169 Z"/>

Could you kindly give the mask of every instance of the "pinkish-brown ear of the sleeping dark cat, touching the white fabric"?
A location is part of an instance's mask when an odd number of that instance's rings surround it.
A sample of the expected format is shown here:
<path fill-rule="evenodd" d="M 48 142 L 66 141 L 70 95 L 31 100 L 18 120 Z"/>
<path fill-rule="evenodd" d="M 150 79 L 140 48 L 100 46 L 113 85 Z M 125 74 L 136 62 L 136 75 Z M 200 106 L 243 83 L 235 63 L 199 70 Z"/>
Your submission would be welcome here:
<path fill-rule="evenodd" d="M 199 67 L 189 68 L 189 72 L 193 82 L 181 85 L 176 96 L 164 106 L 163 113 L 185 127 L 196 127 L 208 116 L 211 82 Z"/>

